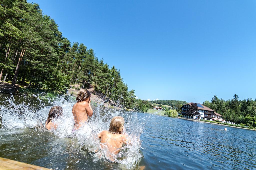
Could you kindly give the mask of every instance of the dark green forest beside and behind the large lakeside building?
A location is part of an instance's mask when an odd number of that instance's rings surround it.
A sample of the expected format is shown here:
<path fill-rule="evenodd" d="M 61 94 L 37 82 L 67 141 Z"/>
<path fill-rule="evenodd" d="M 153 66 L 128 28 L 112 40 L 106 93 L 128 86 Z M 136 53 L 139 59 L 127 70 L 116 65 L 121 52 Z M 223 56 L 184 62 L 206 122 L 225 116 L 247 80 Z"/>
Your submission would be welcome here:
<path fill-rule="evenodd" d="M 256 99 L 239 100 L 238 95 L 235 94 L 225 101 L 214 95 L 211 102 L 206 100 L 202 104 L 221 114 L 226 121 L 245 124 L 249 128 L 256 127 Z"/>

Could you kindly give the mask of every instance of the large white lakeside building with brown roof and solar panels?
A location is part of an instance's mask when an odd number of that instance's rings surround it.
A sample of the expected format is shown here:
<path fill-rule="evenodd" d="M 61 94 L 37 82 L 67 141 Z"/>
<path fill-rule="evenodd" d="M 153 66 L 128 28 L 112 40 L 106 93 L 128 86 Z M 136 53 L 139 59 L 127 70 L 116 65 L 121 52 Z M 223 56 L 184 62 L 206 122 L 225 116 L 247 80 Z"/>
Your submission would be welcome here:
<path fill-rule="evenodd" d="M 187 118 L 192 118 L 192 119 L 204 119 L 204 120 L 210 120 L 210 121 L 214 121 L 214 120 L 218 120 L 220 122 L 225 122 L 225 119 L 222 119 L 222 115 L 220 115 L 219 113 L 215 112 L 214 110 L 200 104 L 200 103 L 197 103 L 197 109 L 198 109 L 198 115 L 195 115 L 195 116 L 189 116 L 187 114 L 188 112 L 188 108 L 191 106 L 191 103 L 187 103 L 187 104 L 184 104 L 182 107 L 181 107 L 181 114 L 184 116 L 184 117 L 187 117 Z"/>

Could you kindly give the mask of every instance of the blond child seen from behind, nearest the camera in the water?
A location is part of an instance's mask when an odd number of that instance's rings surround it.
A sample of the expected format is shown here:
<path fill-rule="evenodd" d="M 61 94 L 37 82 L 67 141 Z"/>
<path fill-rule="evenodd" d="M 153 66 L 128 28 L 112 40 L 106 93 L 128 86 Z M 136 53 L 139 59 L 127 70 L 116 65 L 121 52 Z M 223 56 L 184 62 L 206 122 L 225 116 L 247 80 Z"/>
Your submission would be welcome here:
<path fill-rule="evenodd" d="M 130 139 L 124 131 L 124 118 L 115 116 L 111 119 L 109 130 L 103 130 L 98 134 L 100 146 L 108 150 L 108 157 L 113 161 L 113 155 L 118 154 L 123 144 L 129 143 Z"/>

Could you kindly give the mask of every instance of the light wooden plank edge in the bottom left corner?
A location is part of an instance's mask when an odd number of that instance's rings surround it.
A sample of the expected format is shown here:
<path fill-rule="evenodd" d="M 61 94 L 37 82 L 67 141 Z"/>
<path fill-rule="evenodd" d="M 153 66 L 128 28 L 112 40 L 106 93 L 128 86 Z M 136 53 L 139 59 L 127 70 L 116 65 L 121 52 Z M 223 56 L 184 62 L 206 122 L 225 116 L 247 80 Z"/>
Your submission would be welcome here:
<path fill-rule="evenodd" d="M 9 170 L 9 169 L 35 169 L 35 170 L 49 170 L 48 168 L 43 168 L 40 166 L 30 165 L 18 161 L 13 161 L 0 157 L 0 169 L 1 170 Z"/>

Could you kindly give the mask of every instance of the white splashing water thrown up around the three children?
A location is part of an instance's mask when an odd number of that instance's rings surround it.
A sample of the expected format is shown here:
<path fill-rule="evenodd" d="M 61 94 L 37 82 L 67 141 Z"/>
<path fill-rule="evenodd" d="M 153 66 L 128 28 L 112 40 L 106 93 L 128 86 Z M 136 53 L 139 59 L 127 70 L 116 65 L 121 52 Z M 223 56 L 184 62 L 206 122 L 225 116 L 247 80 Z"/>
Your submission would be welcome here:
<path fill-rule="evenodd" d="M 125 168 L 132 169 L 142 158 L 140 153 L 141 140 L 140 135 L 143 131 L 144 124 L 149 117 L 138 118 L 137 113 L 117 111 L 115 109 L 102 108 L 101 104 L 93 108 L 93 116 L 80 129 L 72 134 L 74 119 L 72 107 L 76 100 L 72 96 L 58 96 L 54 100 L 48 99 L 48 103 L 39 99 L 38 95 L 34 96 L 36 104 L 32 101 L 28 103 L 16 102 L 14 96 L 0 101 L 0 116 L 4 129 L 23 129 L 26 127 L 34 128 L 38 124 L 45 126 L 49 110 L 53 106 L 61 106 L 63 115 L 55 123 L 58 124 L 56 130 L 52 131 L 59 138 L 77 138 L 78 145 L 82 150 L 89 151 L 94 161 L 109 161 L 108 151 L 101 149 L 98 133 L 102 130 L 108 130 L 112 117 L 120 115 L 125 119 L 126 133 L 131 137 L 131 142 L 120 149 L 116 155 L 111 155 L 111 161 L 121 163 Z M 150 116 L 150 115 L 149 115 Z M 98 150 L 98 152 L 95 152 Z"/>

